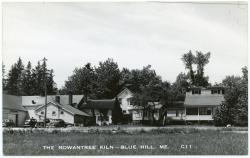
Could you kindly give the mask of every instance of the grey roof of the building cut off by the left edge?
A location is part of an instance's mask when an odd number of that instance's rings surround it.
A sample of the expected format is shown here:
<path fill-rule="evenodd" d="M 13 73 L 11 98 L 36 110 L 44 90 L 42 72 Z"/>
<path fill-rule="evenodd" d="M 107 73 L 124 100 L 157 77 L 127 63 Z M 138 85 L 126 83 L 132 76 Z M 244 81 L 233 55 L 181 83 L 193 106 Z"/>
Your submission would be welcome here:
<path fill-rule="evenodd" d="M 3 94 L 3 109 L 27 111 L 22 107 L 22 97 Z"/>

